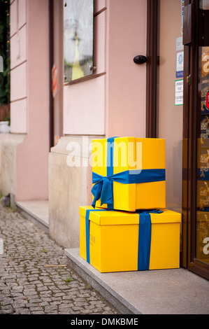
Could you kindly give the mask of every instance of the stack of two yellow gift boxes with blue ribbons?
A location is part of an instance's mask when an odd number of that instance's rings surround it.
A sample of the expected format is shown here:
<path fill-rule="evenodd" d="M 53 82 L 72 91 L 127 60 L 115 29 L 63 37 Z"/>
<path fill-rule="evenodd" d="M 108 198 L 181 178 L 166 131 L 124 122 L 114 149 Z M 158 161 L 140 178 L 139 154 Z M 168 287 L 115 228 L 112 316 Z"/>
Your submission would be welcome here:
<path fill-rule="evenodd" d="M 92 206 L 80 256 L 99 272 L 178 268 L 181 215 L 166 209 L 165 140 L 92 141 Z"/>

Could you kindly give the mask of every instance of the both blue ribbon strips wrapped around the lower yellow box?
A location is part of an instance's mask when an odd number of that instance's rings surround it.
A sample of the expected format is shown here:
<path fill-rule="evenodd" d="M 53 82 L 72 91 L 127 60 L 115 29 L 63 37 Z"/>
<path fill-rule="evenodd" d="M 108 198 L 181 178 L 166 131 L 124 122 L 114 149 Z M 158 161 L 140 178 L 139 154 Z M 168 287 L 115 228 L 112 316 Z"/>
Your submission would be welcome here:
<path fill-rule="evenodd" d="M 108 209 L 87 209 L 85 215 L 86 227 L 86 253 L 87 262 L 90 264 L 90 244 L 89 244 L 89 214 L 91 211 L 109 211 Z M 160 210 L 142 210 L 137 211 L 139 214 L 138 224 L 138 271 L 143 271 L 150 268 L 150 246 L 152 222 L 150 213 L 161 214 Z"/>

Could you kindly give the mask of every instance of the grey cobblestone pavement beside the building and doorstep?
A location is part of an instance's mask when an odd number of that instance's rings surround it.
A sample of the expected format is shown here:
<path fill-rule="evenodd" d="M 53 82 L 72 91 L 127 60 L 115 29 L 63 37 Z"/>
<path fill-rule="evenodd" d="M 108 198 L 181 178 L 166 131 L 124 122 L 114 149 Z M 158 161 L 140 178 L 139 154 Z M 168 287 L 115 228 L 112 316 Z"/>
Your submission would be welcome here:
<path fill-rule="evenodd" d="M 119 314 L 66 266 L 64 248 L 2 205 L 0 239 L 0 314 Z"/>

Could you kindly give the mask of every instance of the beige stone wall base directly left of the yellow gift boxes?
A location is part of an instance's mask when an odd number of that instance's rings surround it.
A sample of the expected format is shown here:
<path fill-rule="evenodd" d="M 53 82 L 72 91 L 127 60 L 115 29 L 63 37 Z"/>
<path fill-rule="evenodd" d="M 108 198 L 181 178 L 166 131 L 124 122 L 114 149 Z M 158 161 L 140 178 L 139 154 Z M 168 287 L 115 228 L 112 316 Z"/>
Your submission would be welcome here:
<path fill-rule="evenodd" d="M 92 167 L 88 165 L 91 141 L 87 137 L 62 137 L 49 155 L 49 230 L 64 248 L 79 247 L 79 207 L 92 200 Z M 69 167 L 74 161 L 76 165 Z"/>

